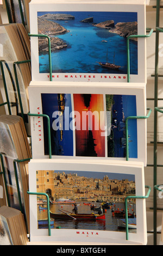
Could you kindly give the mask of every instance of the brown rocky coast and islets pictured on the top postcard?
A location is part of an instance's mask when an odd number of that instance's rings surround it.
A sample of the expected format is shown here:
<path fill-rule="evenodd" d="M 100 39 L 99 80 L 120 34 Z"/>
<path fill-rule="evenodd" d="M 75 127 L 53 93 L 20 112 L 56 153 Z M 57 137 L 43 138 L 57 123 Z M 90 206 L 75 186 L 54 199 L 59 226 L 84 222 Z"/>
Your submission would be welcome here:
<path fill-rule="evenodd" d="M 74 20 L 74 16 L 70 14 L 45 14 L 39 16 L 37 19 L 38 22 L 38 33 L 48 35 L 51 38 L 51 49 L 52 51 L 59 50 L 67 47 L 67 44 L 59 39 L 57 35 L 65 34 L 70 31 L 67 31 L 66 28 L 59 25 L 57 20 Z M 93 17 L 86 18 L 80 22 L 90 23 L 91 26 L 108 29 L 111 33 L 116 33 L 120 36 L 127 38 L 129 35 L 137 34 L 137 22 L 118 22 L 115 25 L 114 20 L 108 20 L 100 23 L 93 23 Z M 137 41 L 137 38 L 132 38 L 132 40 Z M 46 38 L 39 38 L 39 51 L 46 52 L 48 51 L 48 44 Z"/>

